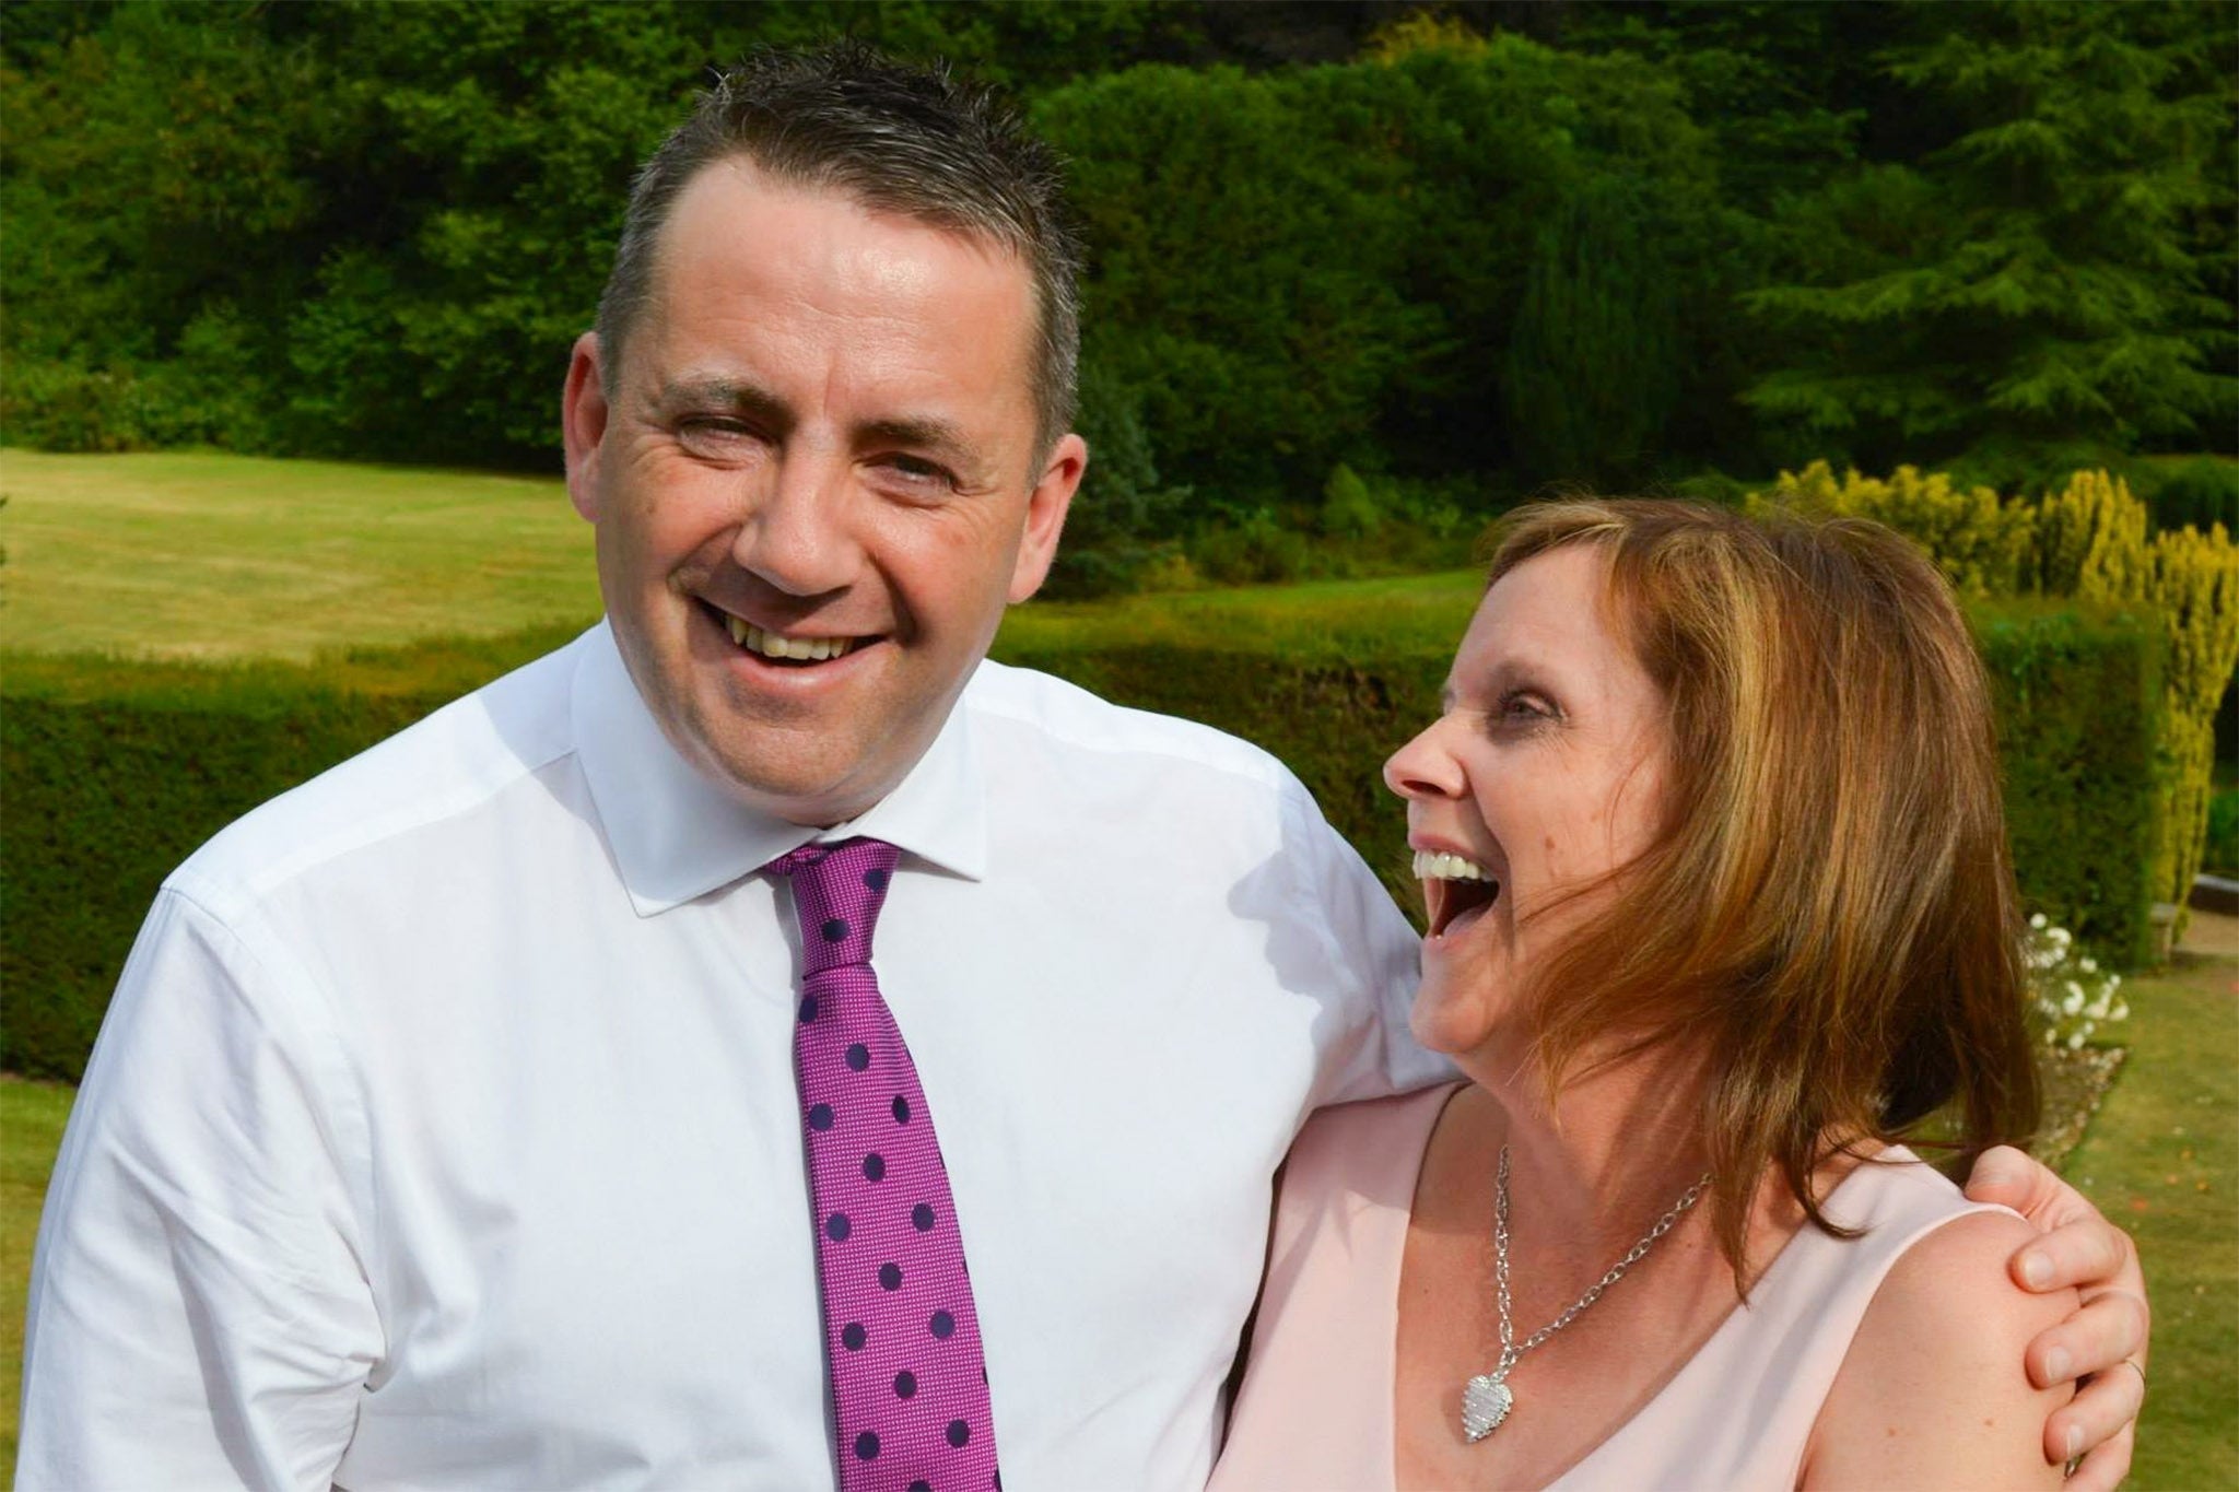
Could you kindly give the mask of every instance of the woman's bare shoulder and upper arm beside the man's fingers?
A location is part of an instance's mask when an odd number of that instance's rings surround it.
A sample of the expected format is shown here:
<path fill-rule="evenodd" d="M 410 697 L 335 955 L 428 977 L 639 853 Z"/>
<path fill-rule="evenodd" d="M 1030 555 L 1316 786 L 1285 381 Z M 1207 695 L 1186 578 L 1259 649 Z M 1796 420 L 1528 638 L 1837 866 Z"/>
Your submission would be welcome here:
<path fill-rule="evenodd" d="M 2073 1385 L 2031 1387 L 2022 1351 L 2076 1295 L 2013 1284 L 2006 1259 L 2033 1235 L 2011 1212 L 1966 1212 L 1890 1266 L 1811 1432 L 1802 1485 L 2060 1485 L 2044 1418 Z"/>

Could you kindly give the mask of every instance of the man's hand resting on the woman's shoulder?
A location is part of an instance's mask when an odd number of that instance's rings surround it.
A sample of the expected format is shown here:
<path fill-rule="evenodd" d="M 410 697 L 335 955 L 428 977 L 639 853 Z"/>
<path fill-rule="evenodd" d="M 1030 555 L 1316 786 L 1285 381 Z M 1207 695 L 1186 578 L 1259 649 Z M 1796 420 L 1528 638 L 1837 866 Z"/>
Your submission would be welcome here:
<path fill-rule="evenodd" d="M 2080 1492 L 2114 1492 L 2129 1472 L 2145 1403 L 2145 1273 L 2129 1235 L 2098 1215 L 2082 1194 L 2020 1150 L 1982 1152 L 1968 1177 L 1970 1201 L 1995 1201 L 2037 1224 L 2006 1268 L 2024 1291 L 2076 1286 L 2082 1306 L 2024 1349 L 2029 1380 L 2040 1389 L 2080 1380 L 2076 1398 L 2044 1423 L 2044 1458 L 2082 1465 L 2069 1479 Z"/>

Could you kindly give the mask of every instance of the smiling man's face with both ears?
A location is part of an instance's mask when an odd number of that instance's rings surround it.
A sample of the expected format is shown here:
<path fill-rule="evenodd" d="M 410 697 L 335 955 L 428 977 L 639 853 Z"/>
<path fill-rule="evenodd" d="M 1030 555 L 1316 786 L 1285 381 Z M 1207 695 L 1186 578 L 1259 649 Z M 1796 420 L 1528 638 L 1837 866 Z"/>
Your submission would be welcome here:
<path fill-rule="evenodd" d="M 676 199 L 622 365 L 575 344 L 569 494 L 613 635 L 741 801 L 878 803 L 1041 584 L 1088 447 L 1037 450 L 1034 324 L 1005 248 L 723 161 Z"/>

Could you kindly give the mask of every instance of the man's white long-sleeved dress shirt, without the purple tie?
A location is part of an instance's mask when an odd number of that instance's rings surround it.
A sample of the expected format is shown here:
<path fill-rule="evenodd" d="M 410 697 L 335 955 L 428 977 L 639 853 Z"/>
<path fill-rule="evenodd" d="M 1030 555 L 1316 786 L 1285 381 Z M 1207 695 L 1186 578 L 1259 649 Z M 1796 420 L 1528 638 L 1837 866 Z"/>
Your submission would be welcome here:
<path fill-rule="evenodd" d="M 983 664 L 813 834 L 605 626 L 249 814 L 157 897 L 40 1224 L 20 1488 L 831 1488 L 755 875 L 902 848 L 1003 1481 L 1198 1488 L 1305 1112 L 1420 1087 L 1415 937 L 1267 754 Z"/>

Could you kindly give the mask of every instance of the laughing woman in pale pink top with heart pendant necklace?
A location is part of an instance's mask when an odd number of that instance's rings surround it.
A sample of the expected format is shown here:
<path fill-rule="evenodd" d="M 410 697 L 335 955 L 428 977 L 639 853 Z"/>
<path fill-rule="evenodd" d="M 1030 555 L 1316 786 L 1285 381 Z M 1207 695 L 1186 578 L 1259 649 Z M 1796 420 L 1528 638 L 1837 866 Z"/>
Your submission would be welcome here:
<path fill-rule="evenodd" d="M 1516 519 L 1386 765 L 1467 1083 L 1301 1134 L 1214 1488 L 2058 1485 L 2029 1226 L 1896 1145 L 2026 1136 L 1984 680 L 1865 523 Z M 1596 1284 L 1599 1282 L 1599 1284 Z"/>

